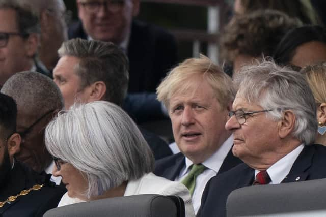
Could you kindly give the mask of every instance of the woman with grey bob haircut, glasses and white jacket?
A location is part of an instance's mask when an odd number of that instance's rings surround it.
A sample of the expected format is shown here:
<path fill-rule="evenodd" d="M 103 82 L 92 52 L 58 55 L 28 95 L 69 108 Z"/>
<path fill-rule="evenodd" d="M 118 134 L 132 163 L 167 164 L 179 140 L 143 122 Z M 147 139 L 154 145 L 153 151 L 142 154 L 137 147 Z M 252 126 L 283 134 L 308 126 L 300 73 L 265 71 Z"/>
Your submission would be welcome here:
<path fill-rule="evenodd" d="M 96 101 L 59 112 L 45 129 L 45 144 L 56 163 L 53 175 L 62 176 L 67 188 L 58 206 L 136 194 L 178 195 L 187 216 L 194 216 L 186 187 L 151 173 L 151 149 L 113 103 Z"/>

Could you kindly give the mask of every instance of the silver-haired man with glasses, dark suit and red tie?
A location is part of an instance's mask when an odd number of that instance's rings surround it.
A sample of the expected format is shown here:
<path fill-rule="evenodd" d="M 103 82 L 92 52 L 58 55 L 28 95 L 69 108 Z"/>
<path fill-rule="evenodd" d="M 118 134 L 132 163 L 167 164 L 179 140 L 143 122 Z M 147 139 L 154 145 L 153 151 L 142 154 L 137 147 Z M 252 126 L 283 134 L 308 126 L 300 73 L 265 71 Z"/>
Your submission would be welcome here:
<path fill-rule="evenodd" d="M 227 130 L 233 154 L 244 163 L 212 178 L 198 216 L 226 216 L 235 189 L 326 178 L 326 147 L 317 135 L 316 105 L 303 75 L 271 61 L 242 69 Z"/>

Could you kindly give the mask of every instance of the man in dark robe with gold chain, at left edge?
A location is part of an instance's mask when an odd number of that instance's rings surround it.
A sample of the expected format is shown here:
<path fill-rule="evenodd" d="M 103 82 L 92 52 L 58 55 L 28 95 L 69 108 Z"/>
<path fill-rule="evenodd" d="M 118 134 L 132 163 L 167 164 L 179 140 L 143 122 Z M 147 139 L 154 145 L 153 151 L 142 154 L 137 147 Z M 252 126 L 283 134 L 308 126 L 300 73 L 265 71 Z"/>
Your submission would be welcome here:
<path fill-rule="evenodd" d="M 15 159 L 21 142 L 16 117 L 15 101 L 0 94 L 0 216 L 42 216 L 57 207 L 65 188 Z"/>

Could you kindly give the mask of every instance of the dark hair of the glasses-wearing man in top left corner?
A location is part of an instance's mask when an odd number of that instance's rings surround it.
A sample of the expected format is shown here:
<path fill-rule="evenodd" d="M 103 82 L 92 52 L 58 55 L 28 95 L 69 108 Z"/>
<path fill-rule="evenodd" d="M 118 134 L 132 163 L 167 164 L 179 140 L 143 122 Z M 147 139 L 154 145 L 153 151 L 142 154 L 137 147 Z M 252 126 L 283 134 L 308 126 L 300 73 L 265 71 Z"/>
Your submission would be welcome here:
<path fill-rule="evenodd" d="M 19 0 L 0 0 L 0 9 L 16 11 L 17 27 L 20 33 L 40 33 L 39 18 L 32 7 Z"/>

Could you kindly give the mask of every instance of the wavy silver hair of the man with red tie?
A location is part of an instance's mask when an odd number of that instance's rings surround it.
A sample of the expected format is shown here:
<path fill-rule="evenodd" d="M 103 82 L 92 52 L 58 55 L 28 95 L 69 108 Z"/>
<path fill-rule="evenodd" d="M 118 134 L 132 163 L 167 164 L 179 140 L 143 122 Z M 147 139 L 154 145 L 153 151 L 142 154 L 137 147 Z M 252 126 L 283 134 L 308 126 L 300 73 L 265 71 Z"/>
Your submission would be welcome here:
<path fill-rule="evenodd" d="M 249 103 L 255 102 L 275 121 L 282 119 L 284 110 L 295 114 L 292 136 L 312 144 L 317 133 L 316 104 L 305 77 L 273 61 L 263 60 L 259 65 L 247 66 L 234 78 L 238 94 Z M 281 108 L 281 109 L 278 109 Z"/>

